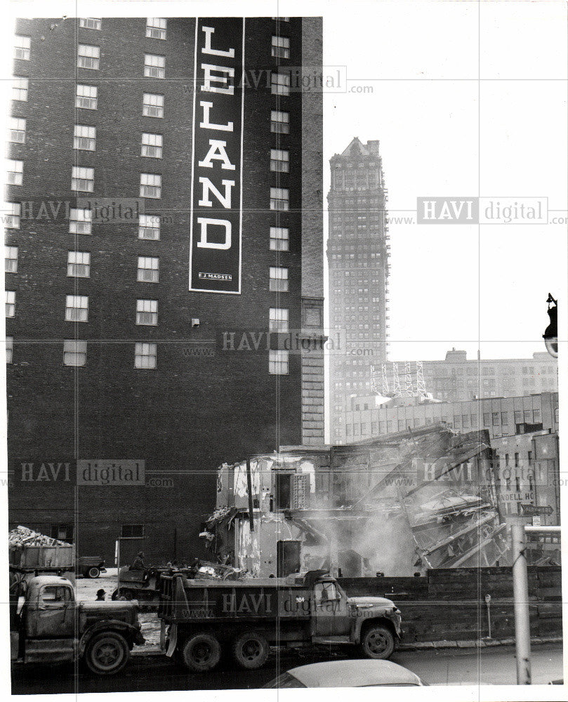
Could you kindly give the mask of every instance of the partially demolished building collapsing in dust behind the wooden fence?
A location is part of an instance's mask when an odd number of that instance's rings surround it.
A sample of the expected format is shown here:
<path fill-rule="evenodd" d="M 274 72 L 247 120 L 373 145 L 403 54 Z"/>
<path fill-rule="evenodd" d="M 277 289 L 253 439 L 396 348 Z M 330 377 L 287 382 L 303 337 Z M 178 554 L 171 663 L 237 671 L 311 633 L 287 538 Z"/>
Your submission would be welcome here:
<path fill-rule="evenodd" d="M 507 563 L 486 431 L 430 425 L 345 446 L 283 446 L 218 470 L 201 536 L 251 576 L 411 575 Z"/>

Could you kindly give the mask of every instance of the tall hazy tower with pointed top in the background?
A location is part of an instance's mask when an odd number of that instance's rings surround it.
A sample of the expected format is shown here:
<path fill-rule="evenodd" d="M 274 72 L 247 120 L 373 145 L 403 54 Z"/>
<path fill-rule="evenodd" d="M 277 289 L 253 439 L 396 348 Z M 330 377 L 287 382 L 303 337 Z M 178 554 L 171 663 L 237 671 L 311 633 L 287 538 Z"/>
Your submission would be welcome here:
<path fill-rule="evenodd" d="M 388 220 L 378 141 L 354 138 L 330 161 L 329 333 L 331 442 L 353 396 L 368 395 L 370 364 L 386 359 Z"/>

